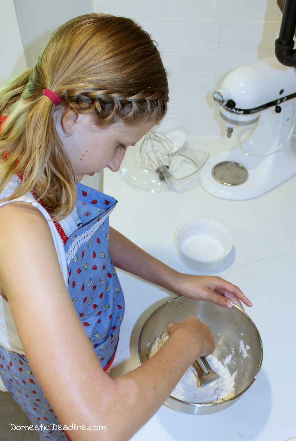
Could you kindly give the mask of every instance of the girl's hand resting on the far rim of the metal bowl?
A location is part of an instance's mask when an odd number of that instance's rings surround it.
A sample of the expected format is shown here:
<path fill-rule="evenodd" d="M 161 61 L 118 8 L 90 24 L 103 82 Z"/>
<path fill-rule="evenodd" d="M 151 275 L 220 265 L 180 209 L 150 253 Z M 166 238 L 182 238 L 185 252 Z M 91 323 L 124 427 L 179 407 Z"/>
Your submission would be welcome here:
<path fill-rule="evenodd" d="M 218 276 L 193 276 L 179 273 L 176 291 L 173 292 L 188 299 L 208 300 L 225 308 L 231 308 L 235 304 L 244 310 L 241 302 L 246 306 L 252 306 L 240 288 Z"/>

